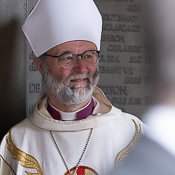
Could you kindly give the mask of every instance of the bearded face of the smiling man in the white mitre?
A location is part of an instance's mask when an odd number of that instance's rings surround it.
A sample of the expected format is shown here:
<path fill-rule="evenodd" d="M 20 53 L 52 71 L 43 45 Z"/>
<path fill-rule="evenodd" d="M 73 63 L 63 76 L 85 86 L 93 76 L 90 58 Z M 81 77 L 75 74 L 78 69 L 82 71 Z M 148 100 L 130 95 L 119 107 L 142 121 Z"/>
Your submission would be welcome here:
<path fill-rule="evenodd" d="M 47 54 L 54 56 L 68 52 L 81 54 L 86 50 L 96 50 L 96 46 L 88 41 L 72 41 L 50 49 Z M 46 57 L 44 66 L 46 91 L 62 104 L 76 105 L 90 99 L 98 78 L 97 65 L 87 66 L 81 57 L 78 57 L 72 69 L 65 69 L 53 57 Z"/>

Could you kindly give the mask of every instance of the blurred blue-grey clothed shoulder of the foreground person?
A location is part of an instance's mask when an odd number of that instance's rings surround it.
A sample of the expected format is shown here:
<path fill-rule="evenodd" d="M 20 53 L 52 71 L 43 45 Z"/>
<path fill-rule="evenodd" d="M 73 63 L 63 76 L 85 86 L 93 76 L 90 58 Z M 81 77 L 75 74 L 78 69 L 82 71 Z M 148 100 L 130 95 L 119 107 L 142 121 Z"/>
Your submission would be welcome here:
<path fill-rule="evenodd" d="M 110 175 L 174 175 L 175 157 L 149 137 L 142 137 Z"/>

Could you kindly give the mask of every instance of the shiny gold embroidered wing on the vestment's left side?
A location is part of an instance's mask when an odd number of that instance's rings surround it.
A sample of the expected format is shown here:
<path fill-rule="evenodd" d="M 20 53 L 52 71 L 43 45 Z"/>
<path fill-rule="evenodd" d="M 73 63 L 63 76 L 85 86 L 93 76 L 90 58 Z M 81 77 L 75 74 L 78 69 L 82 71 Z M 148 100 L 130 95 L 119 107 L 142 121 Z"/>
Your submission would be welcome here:
<path fill-rule="evenodd" d="M 7 149 L 12 155 L 12 158 L 21 162 L 21 166 L 24 168 L 36 169 L 37 173 L 30 173 L 25 171 L 28 175 L 44 175 L 38 161 L 31 155 L 18 149 L 12 139 L 12 131 L 9 131 L 9 136 L 6 138 Z"/>

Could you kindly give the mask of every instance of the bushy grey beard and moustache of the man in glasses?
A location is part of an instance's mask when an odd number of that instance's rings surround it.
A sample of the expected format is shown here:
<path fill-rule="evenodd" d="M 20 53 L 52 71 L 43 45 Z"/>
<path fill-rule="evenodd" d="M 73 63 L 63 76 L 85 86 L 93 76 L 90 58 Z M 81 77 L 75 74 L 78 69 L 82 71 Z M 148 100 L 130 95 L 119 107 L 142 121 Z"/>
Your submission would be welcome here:
<path fill-rule="evenodd" d="M 74 79 L 75 77 L 87 78 L 87 84 L 70 86 L 71 79 Z M 70 75 L 66 84 L 64 84 L 62 76 L 52 76 L 50 71 L 47 69 L 45 70 L 44 86 L 47 94 L 51 93 L 61 104 L 65 104 L 67 106 L 78 105 L 91 98 L 98 80 L 99 74 L 98 70 L 96 70 L 92 80 L 89 73 L 74 74 Z"/>

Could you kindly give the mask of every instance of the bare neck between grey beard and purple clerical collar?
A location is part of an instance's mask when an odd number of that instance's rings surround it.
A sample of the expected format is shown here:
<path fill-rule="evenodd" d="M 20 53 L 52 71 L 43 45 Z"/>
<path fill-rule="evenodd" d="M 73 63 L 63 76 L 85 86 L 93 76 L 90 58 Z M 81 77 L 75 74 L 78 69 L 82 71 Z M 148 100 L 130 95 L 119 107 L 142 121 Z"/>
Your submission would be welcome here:
<path fill-rule="evenodd" d="M 77 111 L 78 109 L 81 109 L 83 108 L 84 106 L 86 106 L 90 99 L 88 99 L 86 102 L 84 103 L 81 103 L 81 104 L 75 104 L 75 105 L 65 105 L 65 104 L 62 104 L 60 103 L 58 100 L 56 100 L 54 98 L 54 96 L 52 95 L 48 95 L 48 98 L 49 98 L 49 101 L 51 103 L 51 105 L 57 109 L 59 109 L 60 111 L 63 111 L 63 112 L 74 112 L 74 111 Z"/>

